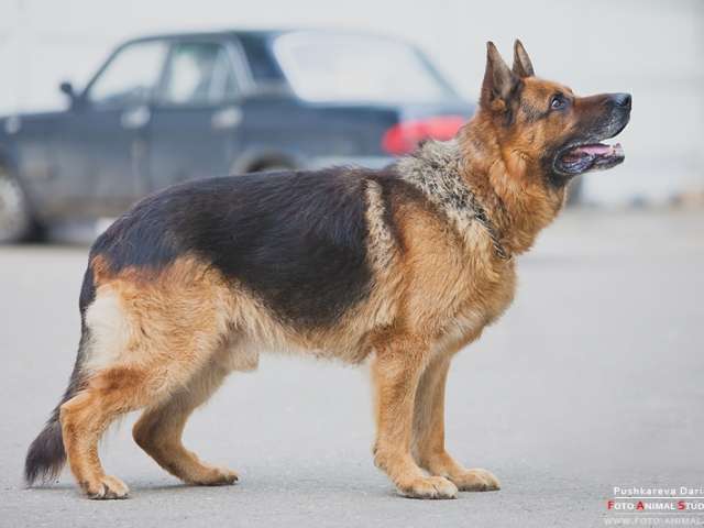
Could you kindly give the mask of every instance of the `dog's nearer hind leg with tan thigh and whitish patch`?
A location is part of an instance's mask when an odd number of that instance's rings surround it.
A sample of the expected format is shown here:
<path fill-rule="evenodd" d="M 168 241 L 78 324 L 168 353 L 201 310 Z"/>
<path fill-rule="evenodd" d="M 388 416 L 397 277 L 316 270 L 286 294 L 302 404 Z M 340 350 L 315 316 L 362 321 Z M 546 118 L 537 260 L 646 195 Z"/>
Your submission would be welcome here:
<path fill-rule="evenodd" d="M 199 373 L 220 367 L 215 360 L 228 334 L 227 295 L 217 277 L 188 261 L 152 282 L 116 278 L 98 286 L 85 315 L 85 383 L 59 411 L 68 463 L 87 495 L 128 494 L 98 458 L 100 437 L 114 419 L 166 405 Z M 187 408 L 187 399 L 175 402 Z M 169 409 L 178 411 L 174 405 Z"/>

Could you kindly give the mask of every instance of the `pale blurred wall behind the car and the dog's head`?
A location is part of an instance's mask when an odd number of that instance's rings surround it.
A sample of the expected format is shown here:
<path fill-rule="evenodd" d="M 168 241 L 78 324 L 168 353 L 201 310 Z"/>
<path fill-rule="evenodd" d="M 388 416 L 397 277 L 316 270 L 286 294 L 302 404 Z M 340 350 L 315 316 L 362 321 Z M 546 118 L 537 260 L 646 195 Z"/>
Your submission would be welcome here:
<path fill-rule="evenodd" d="M 508 59 L 513 38 L 537 73 L 578 94 L 630 91 L 626 163 L 585 182 L 587 200 L 666 204 L 704 191 L 704 1 L 0 0 L 0 112 L 62 108 L 61 80 L 81 86 L 111 47 L 150 32 L 338 26 L 420 44 L 475 98 L 484 43 Z"/>

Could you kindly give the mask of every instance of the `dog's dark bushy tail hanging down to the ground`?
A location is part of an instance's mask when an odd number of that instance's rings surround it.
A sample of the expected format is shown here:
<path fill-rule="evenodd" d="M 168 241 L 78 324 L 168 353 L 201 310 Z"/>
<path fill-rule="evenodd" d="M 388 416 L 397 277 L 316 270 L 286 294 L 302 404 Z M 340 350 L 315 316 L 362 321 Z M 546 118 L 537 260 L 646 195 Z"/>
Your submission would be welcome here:
<path fill-rule="evenodd" d="M 84 314 L 87 305 L 92 301 L 94 295 L 92 273 L 89 268 L 84 277 L 84 286 L 80 293 L 81 332 L 80 343 L 78 344 L 78 355 L 76 356 L 74 371 L 72 372 L 64 396 L 52 411 L 52 416 L 46 421 L 44 429 L 42 429 L 42 432 L 34 439 L 26 452 L 24 480 L 28 486 L 34 484 L 37 479 L 41 479 L 42 482 L 56 479 L 66 464 L 66 451 L 64 450 L 59 411 L 61 406 L 76 396 L 84 386 L 85 373 L 82 372 L 82 364 L 90 341 Z"/>

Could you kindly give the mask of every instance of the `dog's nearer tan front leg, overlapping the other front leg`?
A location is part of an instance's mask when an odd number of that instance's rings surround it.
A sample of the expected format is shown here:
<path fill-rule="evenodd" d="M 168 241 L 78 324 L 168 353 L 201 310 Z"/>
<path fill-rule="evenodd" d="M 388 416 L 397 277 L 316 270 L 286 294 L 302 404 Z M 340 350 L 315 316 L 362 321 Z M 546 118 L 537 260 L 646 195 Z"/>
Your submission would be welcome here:
<path fill-rule="evenodd" d="M 374 463 L 407 497 L 453 498 L 457 486 L 442 476 L 427 476 L 410 452 L 414 402 L 427 353 L 428 348 L 413 339 L 393 339 L 376 349 Z"/>

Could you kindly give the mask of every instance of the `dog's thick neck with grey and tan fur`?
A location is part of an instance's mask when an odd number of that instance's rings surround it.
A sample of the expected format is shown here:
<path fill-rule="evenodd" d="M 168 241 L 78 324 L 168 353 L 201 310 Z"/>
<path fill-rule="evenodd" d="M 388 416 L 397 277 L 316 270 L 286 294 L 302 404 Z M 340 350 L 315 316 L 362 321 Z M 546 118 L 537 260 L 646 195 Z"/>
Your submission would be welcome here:
<path fill-rule="evenodd" d="M 503 257 L 530 249 L 557 216 L 563 191 L 546 188 L 538 161 L 503 152 L 472 120 L 455 140 L 428 141 L 398 162 L 399 174 L 418 187 L 453 221 L 461 233 L 482 222 Z"/>

